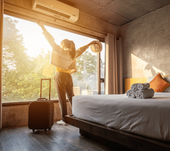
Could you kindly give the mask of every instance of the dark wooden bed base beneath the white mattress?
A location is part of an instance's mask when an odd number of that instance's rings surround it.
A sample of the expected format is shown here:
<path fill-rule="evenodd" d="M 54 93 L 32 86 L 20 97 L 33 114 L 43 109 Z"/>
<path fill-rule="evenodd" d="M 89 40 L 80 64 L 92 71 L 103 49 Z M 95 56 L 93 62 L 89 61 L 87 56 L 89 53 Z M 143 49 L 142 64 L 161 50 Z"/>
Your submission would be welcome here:
<path fill-rule="evenodd" d="M 159 141 L 116 129 L 108 128 L 96 123 L 81 120 L 73 115 L 65 116 L 66 123 L 78 127 L 80 134 L 105 144 L 117 143 L 136 151 L 170 151 L 170 142 Z"/>

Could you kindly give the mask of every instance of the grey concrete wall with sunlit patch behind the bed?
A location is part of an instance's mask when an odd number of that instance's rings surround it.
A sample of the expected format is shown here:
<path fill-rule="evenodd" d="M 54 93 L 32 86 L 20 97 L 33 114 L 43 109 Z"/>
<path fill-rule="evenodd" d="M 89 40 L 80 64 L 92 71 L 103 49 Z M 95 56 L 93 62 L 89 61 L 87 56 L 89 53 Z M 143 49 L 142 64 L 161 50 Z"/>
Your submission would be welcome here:
<path fill-rule="evenodd" d="M 170 5 L 120 28 L 124 78 L 170 74 Z"/>

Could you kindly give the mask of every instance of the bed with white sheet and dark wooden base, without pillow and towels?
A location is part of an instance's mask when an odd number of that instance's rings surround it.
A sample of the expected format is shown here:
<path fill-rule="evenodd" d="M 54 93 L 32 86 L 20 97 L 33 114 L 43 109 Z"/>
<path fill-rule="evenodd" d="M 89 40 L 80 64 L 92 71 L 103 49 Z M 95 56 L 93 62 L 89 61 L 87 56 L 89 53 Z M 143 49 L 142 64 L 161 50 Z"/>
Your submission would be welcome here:
<path fill-rule="evenodd" d="M 133 150 L 170 150 L 170 93 L 132 99 L 125 94 L 73 98 L 66 122 L 80 134 L 101 142 L 116 142 Z"/>

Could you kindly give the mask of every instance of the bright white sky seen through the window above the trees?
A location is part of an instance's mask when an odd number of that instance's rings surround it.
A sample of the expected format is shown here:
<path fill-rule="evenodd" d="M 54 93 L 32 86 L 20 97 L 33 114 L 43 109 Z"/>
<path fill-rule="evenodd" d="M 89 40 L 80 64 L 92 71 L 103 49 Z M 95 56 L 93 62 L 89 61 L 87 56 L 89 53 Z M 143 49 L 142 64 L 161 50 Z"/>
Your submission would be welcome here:
<path fill-rule="evenodd" d="M 8 15 L 5 15 L 8 16 Z M 19 30 L 19 33 L 23 35 L 24 38 L 24 46 L 27 48 L 27 54 L 30 57 L 36 57 L 42 49 L 45 50 L 45 53 L 47 51 L 51 51 L 52 48 L 45 39 L 44 35 L 42 34 L 41 27 L 34 22 L 15 18 L 12 16 L 8 16 L 12 18 L 12 20 L 17 20 L 16 28 Z M 64 30 L 56 29 L 53 27 L 45 26 L 47 31 L 54 37 L 56 44 L 60 45 L 60 42 L 63 39 L 69 39 L 73 40 L 76 49 L 79 47 L 82 47 L 88 43 L 90 43 L 93 40 L 93 38 L 85 37 L 82 35 L 74 34 L 71 32 L 67 32 Z M 104 48 L 104 43 L 102 44 Z M 93 53 L 90 48 L 88 49 L 89 52 Z M 95 55 L 95 54 L 94 54 Z M 102 59 L 103 60 L 103 59 Z"/>

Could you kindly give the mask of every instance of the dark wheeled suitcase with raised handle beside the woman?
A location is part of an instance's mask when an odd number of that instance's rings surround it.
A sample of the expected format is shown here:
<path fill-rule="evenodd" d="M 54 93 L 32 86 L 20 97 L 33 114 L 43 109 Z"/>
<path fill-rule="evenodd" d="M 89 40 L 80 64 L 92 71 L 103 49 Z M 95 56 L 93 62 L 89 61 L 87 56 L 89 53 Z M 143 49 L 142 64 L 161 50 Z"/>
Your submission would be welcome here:
<path fill-rule="evenodd" d="M 42 82 L 49 80 L 49 100 L 42 98 Z M 54 124 L 54 104 L 50 101 L 51 95 L 51 79 L 41 79 L 40 98 L 37 101 L 31 102 L 28 109 L 28 127 L 35 129 L 50 130 Z"/>

